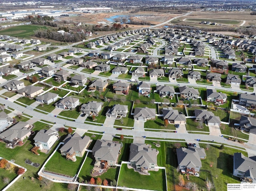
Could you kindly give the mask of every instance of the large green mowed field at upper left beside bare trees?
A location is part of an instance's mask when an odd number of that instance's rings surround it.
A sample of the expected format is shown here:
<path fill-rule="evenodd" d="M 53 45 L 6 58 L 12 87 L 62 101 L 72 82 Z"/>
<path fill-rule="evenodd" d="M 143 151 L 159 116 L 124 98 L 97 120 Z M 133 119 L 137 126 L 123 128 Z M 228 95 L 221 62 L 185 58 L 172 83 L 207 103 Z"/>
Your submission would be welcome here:
<path fill-rule="evenodd" d="M 32 35 L 34 35 L 34 31 L 46 28 L 49 27 L 40 25 L 21 25 L 0 30 L 0 34 L 30 39 L 32 38 Z"/>

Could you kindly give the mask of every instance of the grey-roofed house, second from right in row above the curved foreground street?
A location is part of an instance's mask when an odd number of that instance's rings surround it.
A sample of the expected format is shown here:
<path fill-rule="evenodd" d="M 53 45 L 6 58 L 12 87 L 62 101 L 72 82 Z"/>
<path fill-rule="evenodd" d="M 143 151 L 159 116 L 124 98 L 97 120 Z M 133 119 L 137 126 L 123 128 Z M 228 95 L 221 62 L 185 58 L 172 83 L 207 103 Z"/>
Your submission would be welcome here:
<path fill-rule="evenodd" d="M 205 109 L 195 109 L 194 112 L 197 121 L 203 120 L 205 124 L 208 125 L 220 126 L 221 124 L 220 117 L 215 116 L 211 111 L 207 111 Z"/>

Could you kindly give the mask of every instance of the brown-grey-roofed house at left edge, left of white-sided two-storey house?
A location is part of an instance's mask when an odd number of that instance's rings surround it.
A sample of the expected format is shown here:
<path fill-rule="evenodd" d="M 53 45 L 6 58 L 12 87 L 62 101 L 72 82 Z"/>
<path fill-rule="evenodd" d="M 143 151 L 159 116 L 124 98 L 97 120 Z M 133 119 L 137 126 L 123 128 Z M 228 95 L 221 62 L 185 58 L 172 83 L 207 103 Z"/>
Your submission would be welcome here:
<path fill-rule="evenodd" d="M 31 134 L 31 126 L 26 122 L 18 122 L 0 133 L 0 139 L 12 148 L 18 143 L 23 142 Z"/>

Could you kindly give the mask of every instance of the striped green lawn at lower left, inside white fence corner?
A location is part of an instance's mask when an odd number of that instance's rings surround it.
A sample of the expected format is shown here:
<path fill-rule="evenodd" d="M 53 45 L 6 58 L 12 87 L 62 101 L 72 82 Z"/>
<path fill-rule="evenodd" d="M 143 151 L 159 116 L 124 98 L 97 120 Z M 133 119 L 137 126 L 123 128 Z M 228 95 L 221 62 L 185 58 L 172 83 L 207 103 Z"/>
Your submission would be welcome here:
<path fill-rule="evenodd" d="M 73 162 L 71 160 L 67 160 L 66 156 L 62 156 L 58 150 L 45 165 L 45 170 L 68 176 L 74 176 L 78 172 L 81 163 L 81 157 L 76 157 L 76 162 Z"/>

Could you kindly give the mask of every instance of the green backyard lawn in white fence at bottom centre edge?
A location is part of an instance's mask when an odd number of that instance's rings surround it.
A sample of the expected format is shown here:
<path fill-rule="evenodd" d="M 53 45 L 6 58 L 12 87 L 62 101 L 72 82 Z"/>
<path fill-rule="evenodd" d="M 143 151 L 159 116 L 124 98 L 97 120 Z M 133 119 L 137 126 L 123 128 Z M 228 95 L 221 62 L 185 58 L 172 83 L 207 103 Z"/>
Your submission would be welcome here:
<path fill-rule="evenodd" d="M 157 172 L 150 171 L 150 175 L 140 175 L 134 172 L 134 169 L 128 169 L 124 164 L 120 169 L 118 186 L 166 191 L 164 169 L 159 169 Z"/>

